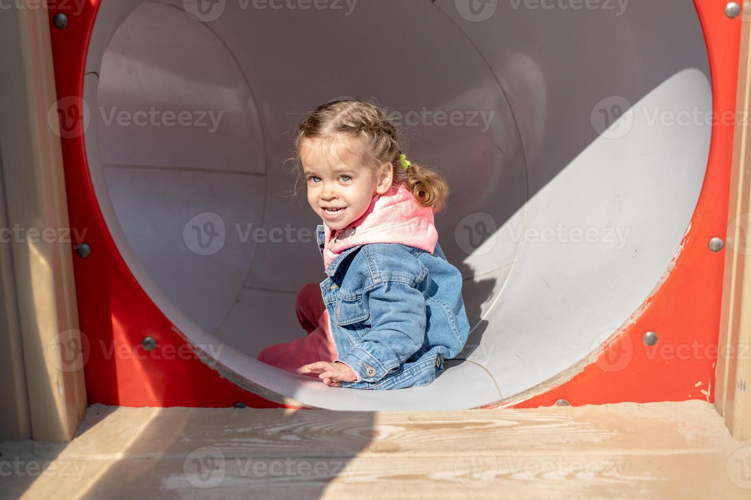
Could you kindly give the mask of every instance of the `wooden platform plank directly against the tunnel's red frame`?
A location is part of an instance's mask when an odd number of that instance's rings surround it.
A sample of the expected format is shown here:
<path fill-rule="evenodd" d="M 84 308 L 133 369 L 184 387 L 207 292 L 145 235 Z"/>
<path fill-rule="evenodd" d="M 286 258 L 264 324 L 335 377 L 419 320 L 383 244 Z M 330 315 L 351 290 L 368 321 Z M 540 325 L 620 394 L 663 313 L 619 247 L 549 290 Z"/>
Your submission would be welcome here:
<path fill-rule="evenodd" d="M 641 419 L 655 432 L 635 432 Z M 682 450 L 695 448 L 695 442 L 712 448 L 729 438 L 715 409 L 701 401 L 423 413 L 92 405 L 80 433 L 101 426 L 109 439 L 96 442 L 95 449 L 88 440 L 74 441 L 62 457 L 107 456 L 125 449 L 130 454 L 187 454 L 210 445 L 265 457 L 312 451 L 321 456 L 361 451 L 427 455 L 475 445 L 528 451 L 556 447 L 587 452 L 603 446 Z M 133 436 L 138 439 L 131 442 Z"/>

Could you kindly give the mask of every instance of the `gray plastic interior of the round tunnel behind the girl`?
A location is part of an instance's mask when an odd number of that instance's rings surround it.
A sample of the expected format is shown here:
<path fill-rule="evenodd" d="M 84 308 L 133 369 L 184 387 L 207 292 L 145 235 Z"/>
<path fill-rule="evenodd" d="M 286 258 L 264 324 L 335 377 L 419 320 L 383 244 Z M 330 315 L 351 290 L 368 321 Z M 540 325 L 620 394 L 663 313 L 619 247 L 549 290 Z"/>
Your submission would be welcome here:
<path fill-rule="evenodd" d="M 220 5 L 196 19 L 182 1 L 102 2 L 86 148 L 134 276 L 194 343 L 225 345 L 237 379 L 331 409 L 493 403 L 596 352 L 668 268 L 710 143 L 708 124 L 659 119 L 711 110 L 691 2 Z M 303 115 L 342 96 L 377 97 L 409 159 L 451 184 L 436 226 L 472 331 L 424 388 L 328 388 L 254 358 L 305 334 L 295 293 L 325 278 L 285 158 Z"/>

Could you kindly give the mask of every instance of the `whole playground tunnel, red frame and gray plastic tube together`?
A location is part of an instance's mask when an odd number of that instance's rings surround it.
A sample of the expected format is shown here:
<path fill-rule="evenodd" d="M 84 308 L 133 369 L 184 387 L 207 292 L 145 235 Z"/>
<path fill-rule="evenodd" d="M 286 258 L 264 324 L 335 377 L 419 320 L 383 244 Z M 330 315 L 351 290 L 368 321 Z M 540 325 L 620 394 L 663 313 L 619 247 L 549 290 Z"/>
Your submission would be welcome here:
<path fill-rule="evenodd" d="M 713 400 L 733 130 L 713 118 L 742 22 L 723 2 L 272 4 L 91 0 L 65 28 L 50 10 L 90 403 Z M 254 358 L 304 334 L 295 293 L 325 277 L 284 166 L 342 95 L 378 97 L 450 181 L 436 226 L 472 330 L 425 387 Z"/>

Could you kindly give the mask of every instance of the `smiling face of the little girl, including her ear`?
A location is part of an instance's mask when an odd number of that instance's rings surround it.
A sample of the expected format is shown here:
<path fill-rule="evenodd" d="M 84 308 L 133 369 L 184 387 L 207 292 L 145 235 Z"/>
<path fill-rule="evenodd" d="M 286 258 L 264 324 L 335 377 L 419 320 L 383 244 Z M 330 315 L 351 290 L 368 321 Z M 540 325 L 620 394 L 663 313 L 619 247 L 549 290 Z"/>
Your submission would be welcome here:
<path fill-rule="evenodd" d="M 300 160 L 310 207 L 331 229 L 344 229 L 360 218 L 372 197 L 391 187 L 392 164 L 383 163 L 373 172 L 362 137 L 305 139 Z"/>

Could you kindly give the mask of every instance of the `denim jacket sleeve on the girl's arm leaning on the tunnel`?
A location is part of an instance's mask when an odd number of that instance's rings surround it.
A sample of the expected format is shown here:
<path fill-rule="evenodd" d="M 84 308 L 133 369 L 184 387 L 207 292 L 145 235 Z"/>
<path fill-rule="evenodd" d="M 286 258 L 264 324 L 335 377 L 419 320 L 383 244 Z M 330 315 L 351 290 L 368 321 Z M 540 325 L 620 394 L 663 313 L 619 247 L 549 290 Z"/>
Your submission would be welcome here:
<path fill-rule="evenodd" d="M 425 338 L 425 298 L 405 281 L 385 280 L 368 293 L 371 329 L 335 361 L 357 373 L 357 381 L 377 382 L 421 348 Z"/>

